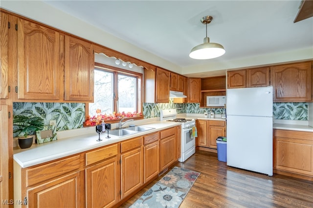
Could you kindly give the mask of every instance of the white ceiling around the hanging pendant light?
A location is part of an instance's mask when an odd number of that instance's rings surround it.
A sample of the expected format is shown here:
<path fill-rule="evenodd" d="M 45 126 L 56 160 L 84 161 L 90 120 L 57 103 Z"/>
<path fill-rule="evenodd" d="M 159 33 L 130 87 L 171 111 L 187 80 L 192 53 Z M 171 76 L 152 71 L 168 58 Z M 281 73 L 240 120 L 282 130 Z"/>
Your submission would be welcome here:
<path fill-rule="evenodd" d="M 313 18 L 293 23 L 301 0 L 46 1 L 115 37 L 180 67 L 209 63 L 190 50 L 205 37 L 224 46 L 219 61 L 313 48 Z M 114 49 L 114 48 L 113 48 Z"/>

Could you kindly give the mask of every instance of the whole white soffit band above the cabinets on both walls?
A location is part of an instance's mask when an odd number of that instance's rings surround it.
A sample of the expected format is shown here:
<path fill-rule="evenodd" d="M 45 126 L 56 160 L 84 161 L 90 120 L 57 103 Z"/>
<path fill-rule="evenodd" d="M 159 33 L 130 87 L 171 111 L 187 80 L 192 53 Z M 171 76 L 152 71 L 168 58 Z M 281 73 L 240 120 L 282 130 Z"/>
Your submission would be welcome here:
<path fill-rule="evenodd" d="M 123 54 L 127 54 L 189 77 L 221 76 L 225 75 L 226 70 L 228 69 L 240 69 L 273 63 L 313 59 L 312 47 L 308 47 L 297 51 L 281 52 L 277 54 L 268 53 L 264 56 L 246 57 L 245 59 L 236 59 L 231 61 L 225 61 L 223 60 L 223 57 L 221 57 L 219 58 L 219 61 L 212 60 L 209 64 L 181 68 L 176 64 L 151 54 L 150 52 L 137 48 L 122 39 L 116 38 L 111 34 L 88 24 L 87 22 L 57 10 L 42 1 L 0 0 L 0 6 L 27 18 L 37 20 Z"/>

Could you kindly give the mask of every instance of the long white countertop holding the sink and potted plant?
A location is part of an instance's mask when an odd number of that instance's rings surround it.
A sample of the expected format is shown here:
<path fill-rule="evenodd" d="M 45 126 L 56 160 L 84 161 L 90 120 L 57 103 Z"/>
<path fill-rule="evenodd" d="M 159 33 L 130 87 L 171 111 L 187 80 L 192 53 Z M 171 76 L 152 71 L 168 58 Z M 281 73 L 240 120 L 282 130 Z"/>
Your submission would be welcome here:
<path fill-rule="evenodd" d="M 142 122 L 142 121 L 141 121 Z M 136 124 L 139 125 L 139 124 Z M 95 127 L 85 127 L 77 130 L 64 131 L 63 134 L 68 136 L 72 133 L 74 136 L 69 136 L 67 138 L 61 138 L 56 141 L 47 142 L 44 144 L 33 144 L 28 149 L 14 150 L 13 159 L 22 167 L 27 168 L 30 166 L 45 163 L 51 160 L 66 157 L 72 154 L 80 153 L 83 151 L 92 150 L 102 146 L 110 145 L 116 142 L 120 142 L 126 139 L 130 139 L 136 136 L 141 136 L 144 134 L 157 132 L 170 127 L 178 126 L 180 123 L 167 122 L 167 121 L 154 121 L 150 123 L 143 123 L 140 126 L 152 127 L 153 130 L 138 132 L 132 135 L 118 137 L 111 135 L 111 138 L 105 138 L 107 132 L 100 134 L 102 141 L 96 141 L 98 139 L 98 134 L 95 132 Z M 82 135 L 77 135 L 81 133 Z M 76 135 L 75 135 L 76 134 Z"/>

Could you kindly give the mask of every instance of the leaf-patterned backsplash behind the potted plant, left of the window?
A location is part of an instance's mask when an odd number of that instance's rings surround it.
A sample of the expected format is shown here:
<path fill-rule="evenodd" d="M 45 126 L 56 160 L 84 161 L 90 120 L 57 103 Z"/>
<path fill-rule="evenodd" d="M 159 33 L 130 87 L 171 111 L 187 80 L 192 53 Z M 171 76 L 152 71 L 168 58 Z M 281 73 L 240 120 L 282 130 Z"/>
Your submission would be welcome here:
<path fill-rule="evenodd" d="M 85 121 L 85 103 L 13 102 L 13 116 L 19 114 L 42 117 L 45 126 L 50 120 L 55 120 L 57 131 L 78 129 L 83 127 Z"/>

